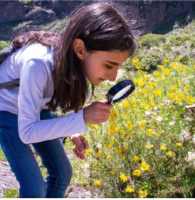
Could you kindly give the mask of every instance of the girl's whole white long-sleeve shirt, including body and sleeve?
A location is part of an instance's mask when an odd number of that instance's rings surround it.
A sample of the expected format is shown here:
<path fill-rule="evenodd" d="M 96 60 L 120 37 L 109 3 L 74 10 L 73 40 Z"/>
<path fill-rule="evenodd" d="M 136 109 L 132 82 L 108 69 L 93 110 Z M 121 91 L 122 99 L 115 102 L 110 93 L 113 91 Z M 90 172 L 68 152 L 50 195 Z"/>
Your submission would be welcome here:
<path fill-rule="evenodd" d="M 53 94 L 53 64 L 53 52 L 48 47 L 32 44 L 17 50 L 0 65 L 0 83 L 20 78 L 19 87 L 0 90 L 0 111 L 18 115 L 19 136 L 24 143 L 87 131 L 82 109 L 40 120 L 40 111 Z"/>

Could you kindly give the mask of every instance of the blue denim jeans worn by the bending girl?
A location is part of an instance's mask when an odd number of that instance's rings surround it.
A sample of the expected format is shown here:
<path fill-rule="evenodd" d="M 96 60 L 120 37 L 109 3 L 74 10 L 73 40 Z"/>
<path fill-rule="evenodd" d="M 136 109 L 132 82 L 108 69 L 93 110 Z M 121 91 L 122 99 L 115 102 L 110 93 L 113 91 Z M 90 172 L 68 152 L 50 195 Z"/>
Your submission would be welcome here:
<path fill-rule="evenodd" d="M 56 117 L 43 110 L 41 119 Z M 0 111 L 0 145 L 20 184 L 22 198 L 63 198 L 72 177 L 72 166 L 59 138 L 32 144 L 48 176 L 44 181 L 38 163 L 28 144 L 18 134 L 18 116 Z"/>

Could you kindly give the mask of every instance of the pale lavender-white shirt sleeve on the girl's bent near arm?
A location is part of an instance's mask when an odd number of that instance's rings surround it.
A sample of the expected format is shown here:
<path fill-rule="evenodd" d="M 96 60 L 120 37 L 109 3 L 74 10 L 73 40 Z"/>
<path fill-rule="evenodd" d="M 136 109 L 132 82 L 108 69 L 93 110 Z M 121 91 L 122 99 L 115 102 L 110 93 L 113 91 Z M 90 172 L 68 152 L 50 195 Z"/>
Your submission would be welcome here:
<path fill-rule="evenodd" d="M 19 136 L 24 143 L 37 143 L 87 131 L 83 110 L 40 120 L 41 100 L 47 82 L 47 63 L 29 60 L 21 71 L 18 95 Z"/>

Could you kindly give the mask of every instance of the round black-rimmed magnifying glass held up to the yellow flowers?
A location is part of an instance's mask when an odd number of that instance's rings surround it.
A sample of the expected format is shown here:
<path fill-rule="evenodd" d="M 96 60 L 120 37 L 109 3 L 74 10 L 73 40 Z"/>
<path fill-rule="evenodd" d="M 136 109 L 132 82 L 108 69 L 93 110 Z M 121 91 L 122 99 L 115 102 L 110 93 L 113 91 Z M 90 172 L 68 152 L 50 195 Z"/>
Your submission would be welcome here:
<path fill-rule="evenodd" d="M 133 92 L 135 85 L 132 80 L 123 80 L 114 85 L 106 94 L 108 103 L 117 103 Z"/>

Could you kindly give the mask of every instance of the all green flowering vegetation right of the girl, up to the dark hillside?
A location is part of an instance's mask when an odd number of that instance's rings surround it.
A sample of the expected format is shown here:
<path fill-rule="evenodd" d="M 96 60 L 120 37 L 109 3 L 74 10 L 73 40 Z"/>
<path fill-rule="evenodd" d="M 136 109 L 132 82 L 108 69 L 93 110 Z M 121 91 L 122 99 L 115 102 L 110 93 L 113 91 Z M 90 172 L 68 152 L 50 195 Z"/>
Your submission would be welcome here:
<path fill-rule="evenodd" d="M 87 158 L 71 159 L 74 183 L 89 184 L 96 197 L 194 197 L 195 116 L 186 109 L 195 103 L 194 28 L 138 38 L 138 53 L 117 80 L 132 79 L 136 90 L 108 122 L 88 126 Z M 96 99 L 110 87 L 103 83 Z"/>

